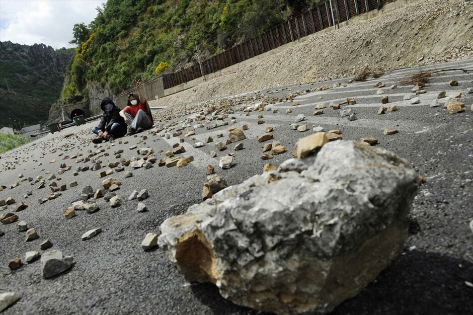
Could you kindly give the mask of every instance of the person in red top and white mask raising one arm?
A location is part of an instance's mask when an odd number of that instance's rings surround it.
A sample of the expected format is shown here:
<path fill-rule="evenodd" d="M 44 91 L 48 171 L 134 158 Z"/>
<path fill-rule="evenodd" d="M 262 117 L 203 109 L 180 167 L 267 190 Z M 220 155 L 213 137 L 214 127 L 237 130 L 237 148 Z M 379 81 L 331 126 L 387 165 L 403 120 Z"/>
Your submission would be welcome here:
<path fill-rule="evenodd" d="M 128 106 L 120 111 L 120 116 L 128 124 L 127 136 L 140 132 L 143 129 L 149 129 L 154 123 L 148 102 L 141 92 L 139 80 L 136 80 L 136 90 L 138 94 L 130 93 L 127 101 Z"/>

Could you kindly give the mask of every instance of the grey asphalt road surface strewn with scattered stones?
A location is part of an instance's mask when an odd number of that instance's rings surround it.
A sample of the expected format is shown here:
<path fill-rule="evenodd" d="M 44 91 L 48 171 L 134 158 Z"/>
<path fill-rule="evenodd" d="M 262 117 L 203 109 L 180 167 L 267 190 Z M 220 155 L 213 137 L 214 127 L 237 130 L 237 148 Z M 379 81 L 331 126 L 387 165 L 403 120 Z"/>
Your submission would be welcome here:
<path fill-rule="evenodd" d="M 400 81 L 420 70 L 431 71 L 454 68 L 467 69 L 441 71 L 433 74 L 427 83 L 426 94 L 419 95 L 420 103 L 411 104 L 404 101 L 405 95 L 415 97 L 410 86 L 402 86 Z M 49 134 L 37 141 L 2 154 L 0 182 L 7 189 L 0 192 L 0 198 L 13 197 L 16 202 L 24 201 L 28 208 L 18 212 L 20 220 L 35 227 L 39 239 L 25 242 L 25 232 L 18 231 L 18 221 L 12 224 L 0 224 L 5 234 L 0 237 L 0 290 L 15 291 L 22 298 L 4 311 L 5 314 L 256 314 L 256 310 L 241 307 L 223 299 L 215 286 L 210 284 L 188 283 L 169 261 L 161 249 L 144 252 L 141 241 L 147 232 L 156 232 L 160 224 L 173 215 L 186 211 L 187 207 L 200 202 L 205 167 L 213 164 L 216 173 L 221 175 L 229 185 L 238 184 L 255 174 L 261 174 L 263 166 L 270 162 L 278 166 L 291 157 L 292 148 L 297 138 L 306 136 L 312 126 L 322 126 L 326 130 L 340 129 L 344 140 L 359 141 L 364 136 L 376 137 L 377 146 L 389 149 L 408 159 L 416 171 L 425 179 L 420 187 L 411 211 L 412 224 L 405 250 L 378 278 L 368 285 L 356 297 L 339 305 L 333 314 L 472 314 L 473 313 L 473 232 L 468 224 L 473 219 L 473 94 L 466 94 L 473 87 L 473 61 L 450 62 L 423 68 L 402 69 L 385 73 L 379 78 L 369 78 L 365 82 L 346 84 L 349 78 L 326 83 L 295 87 L 277 87 L 267 91 L 249 92 L 246 96 L 266 95 L 269 97 L 286 97 L 296 91 L 305 91 L 327 84 L 342 83 L 337 88 L 326 91 L 304 93 L 292 103 L 282 102 L 267 106 L 278 109 L 272 111 L 251 112 L 249 116 L 239 111 L 229 114 L 225 119 L 228 126 L 212 130 L 196 129 L 196 140 L 184 138 L 186 157 L 194 156 L 194 162 L 183 168 L 158 167 L 131 170 L 133 177 L 124 178 L 124 173 L 111 177 L 122 181 L 116 193 L 121 196 L 123 205 L 111 208 L 109 203 L 98 199 L 100 210 L 89 214 L 76 211 L 77 215 L 66 220 L 61 209 L 81 198 L 81 191 L 87 185 L 94 190 L 101 187 L 103 179 L 98 178 L 96 171 L 73 172 L 78 166 L 88 163 L 75 163 L 75 159 L 63 160 L 66 155 L 72 156 L 88 150 L 104 148 L 108 156 L 102 156 L 103 163 L 117 161 L 113 152 L 123 149 L 122 157 L 131 159 L 137 156 L 136 149 L 129 147 L 152 147 L 155 156 L 160 159 L 178 142 L 177 137 L 166 139 L 159 135 L 139 133 L 137 137 L 125 137 L 119 144 L 115 141 L 110 149 L 109 143 L 99 148 L 90 141 L 93 135 L 90 128 L 97 122 L 71 127 L 58 133 Z M 458 81 L 458 86 L 449 85 L 450 80 Z M 373 87 L 384 82 L 384 95 L 376 95 L 378 88 Z M 398 88 L 391 89 L 396 84 Z M 451 115 L 443 106 L 431 108 L 429 103 L 436 99 L 440 91 L 446 91 L 447 97 L 455 92 L 462 92 L 459 99 L 465 103 L 464 112 Z M 377 109 L 382 106 L 382 96 L 389 97 L 385 106 L 397 105 L 396 112 L 378 115 Z M 237 97 L 237 96 L 229 96 Z M 238 96 L 242 97 L 242 96 Z M 340 117 L 340 110 L 333 110 L 330 102 L 340 102 L 350 97 L 355 98 L 355 105 L 344 105 L 342 109 L 351 108 L 357 120 L 348 121 Z M 256 97 L 257 98 L 257 97 Z M 440 100 L 442 102 L 445 99 Z M 258 100 L 254 100 L 254 103 Z M 324 114 L 313 116 L 314 106 L 326 103 Z M 443 105 L 443 103 L 442 103 Z M 292 113 L 286 114 L 290 108 Z M 257 116 L 263 114 L 264 124 L 257 124 Z M 291 130 L 289 125 L 295 122 L 298 114 L 304 114 L 304 123 L 309 131 Z M 159 116 L 159 112 L 156 113 Z M 228 145 L 225 151 L 215 148 L 216 135 L 232 125 L 231 116 L 236 117 L 235 125 L 248 124 L 245 131 L 247 139 L 243 140 L 244 149 L 234 151 L 236 164 L 229 170 L 218 168 L 220 156 L 233 152 L 234 144 Z M 195 117 L 188 115 L 187 117 Z M 175 121 L 183 121 L 184 118 Z M 181 126 L 180 123 L 178 126 Z M 192 123 L 192 124 L 195 124 Z M 275 155 L 270 161 L 261 160 L 262 144 L 257 137 L 264 133 L 265 127 L 274 128 L 274 139 L 285 145 L 287 151 Z M 385 127 L 395 127 L 399 133 L 383 135 Z M 71 135 L 72 134 L 72 135 Z M 147 136 L 142 143 L 136 142 Z M 192 143 L 203 141 L 212 136 L 214 142 L 195 149 Z M 67 136 L 67 137 L 66 137 Z M 83 143 L 84 142 L 84 143 Z M 211 150 L 217 152 L 211 158 Z M 333 163 L 342 160 L 343 156 L 334 156 Z M 54 163 L 51 160 L 56 159 Z M 41 165 L 39 165 L 41 163 Z M 58 175 L 59 165 L 65 163 L 72 169 Z M 14 169 L 13 169 L 14 167 Z M 104 168 L 107 169 L 107 168 Z M 100 171 L 103 171 L 101 169 Z M 48 173 L 50 172 L 50 173 Z M 37 189 L 38 184 L 22 182 L 10 189 L 19 180 L 18 175 L 35 179 L 41 175 L 46 180 L 46 187 Z M 61 180 L 47 180 L 55 174 Z M 77 181 L 78 186 L 69 187 Z M 40 204 L 38 199 L 47 197 L 51 191 L 48 185 L 55 181 L 67 184 L 67 190 L 54 200 Z M 138 213 L 137 201 L 127 201 L 133 190 L 146 188 L 150 197 L 145 200 L 148 211 Z M 24 198 L 27 191 L 32 195 Z M 0 213 L 12 212 L 15 205 Z M 95 238 L 82 241 L 81 235 L 93 228 L 102 228 L 102 233 Z M 50 240 L 50 250 L 60 250 L 64 255 L 72 255 L 75 265 L 67 272 L 52 279 L 43 279 L 40 261 L 25 264 L 18 270 L 8 268 L 10 260 L 25 260 L 27 251 L 40 251 L 39 244 Z"/>

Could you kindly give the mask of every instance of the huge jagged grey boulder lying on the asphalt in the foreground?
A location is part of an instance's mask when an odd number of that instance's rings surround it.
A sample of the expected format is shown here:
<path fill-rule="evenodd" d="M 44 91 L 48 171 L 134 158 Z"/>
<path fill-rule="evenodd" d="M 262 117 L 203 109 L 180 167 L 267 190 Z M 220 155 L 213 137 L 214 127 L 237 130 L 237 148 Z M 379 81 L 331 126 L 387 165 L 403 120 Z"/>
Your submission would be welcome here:
<path fill-rule="evenodd" d="M 408 161 L 331 142 L 166 220 L 159 245 L 187 280 L 237 304 L 323 314 L 401 252 L 416 191 Z"/>

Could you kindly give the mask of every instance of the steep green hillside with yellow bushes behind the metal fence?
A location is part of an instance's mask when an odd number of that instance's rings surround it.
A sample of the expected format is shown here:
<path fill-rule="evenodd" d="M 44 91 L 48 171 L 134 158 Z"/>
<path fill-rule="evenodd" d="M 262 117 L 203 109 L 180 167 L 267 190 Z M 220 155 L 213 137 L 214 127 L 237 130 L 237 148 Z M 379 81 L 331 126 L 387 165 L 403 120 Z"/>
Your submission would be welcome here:
<path fill-rule="evenodd" d="M 308 9 L 317 0 L 108 0 L 88 26 L 76 24 L 77 44 L 63 97 L 85 95 L 90 81 L 116 93 L 232 47 Z"/>

